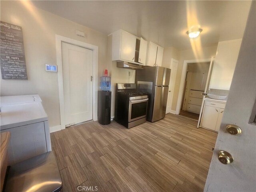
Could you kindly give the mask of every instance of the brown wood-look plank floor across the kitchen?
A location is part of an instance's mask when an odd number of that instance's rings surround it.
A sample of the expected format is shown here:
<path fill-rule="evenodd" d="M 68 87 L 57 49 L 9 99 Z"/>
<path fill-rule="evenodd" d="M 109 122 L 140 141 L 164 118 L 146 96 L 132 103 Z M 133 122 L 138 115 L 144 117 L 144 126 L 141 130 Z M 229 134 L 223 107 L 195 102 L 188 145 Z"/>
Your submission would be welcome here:
<path fill-rule="evenodd" d="M 167 114 L 130 129 L 90 122 L 51 133 L 63 191 L 203 191 L 217 133 L 196 123 Z"/>

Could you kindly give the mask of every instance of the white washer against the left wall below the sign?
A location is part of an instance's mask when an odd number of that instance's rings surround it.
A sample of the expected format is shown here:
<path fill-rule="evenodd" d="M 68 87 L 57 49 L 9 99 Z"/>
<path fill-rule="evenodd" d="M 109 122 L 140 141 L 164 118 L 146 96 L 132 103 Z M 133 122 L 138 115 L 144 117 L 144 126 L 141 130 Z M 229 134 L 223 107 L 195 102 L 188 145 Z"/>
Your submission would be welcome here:
<path fill-rule="evenodd" d="M 0 132 L 11 132 L 8 165 L 51 151 L 48 117 L 40 96 L 3 96 L 0 99 Z"/>

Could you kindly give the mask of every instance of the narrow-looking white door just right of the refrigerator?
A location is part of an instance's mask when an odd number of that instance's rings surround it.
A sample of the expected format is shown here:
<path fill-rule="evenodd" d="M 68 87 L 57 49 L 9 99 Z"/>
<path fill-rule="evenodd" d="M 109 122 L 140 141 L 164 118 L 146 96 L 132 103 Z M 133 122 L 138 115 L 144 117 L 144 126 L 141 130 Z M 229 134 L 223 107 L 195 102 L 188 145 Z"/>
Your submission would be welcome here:
<path fill-rule="evenodd" d="M 172 58 L 171 64 L 170 64 L 171 75 L 170 75 L 166 114 L 172 111 L 172 99 L 173 99 L 173 92 L 175 87 L 176 74 L 178 70 L 178 62 L 179 62 L 178 60 Z"/>

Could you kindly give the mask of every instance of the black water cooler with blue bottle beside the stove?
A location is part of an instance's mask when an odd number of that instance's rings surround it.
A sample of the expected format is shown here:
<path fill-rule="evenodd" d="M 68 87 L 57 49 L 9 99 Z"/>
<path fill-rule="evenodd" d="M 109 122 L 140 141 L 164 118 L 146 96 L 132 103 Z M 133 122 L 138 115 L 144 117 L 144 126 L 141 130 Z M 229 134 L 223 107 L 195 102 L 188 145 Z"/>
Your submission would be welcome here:
<path fill-rule="evenodd" d="M 108 70 L 100 78 L 100 91 L 98 91 L 98 122 L 102 125 L 110 124 L 111 116 L 111 82 Z"/>

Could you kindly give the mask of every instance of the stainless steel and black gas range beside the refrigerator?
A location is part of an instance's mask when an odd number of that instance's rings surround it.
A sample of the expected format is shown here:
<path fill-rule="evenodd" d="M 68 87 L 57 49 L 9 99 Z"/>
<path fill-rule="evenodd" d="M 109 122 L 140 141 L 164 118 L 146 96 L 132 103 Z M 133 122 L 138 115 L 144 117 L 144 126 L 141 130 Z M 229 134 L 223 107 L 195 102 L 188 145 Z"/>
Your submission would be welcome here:
<path fill-rule="evenodd" d="M 148 94 L 138 92 L 135 83 L 116 84 L 115 121 L 127 128 L 146 122 Z"/>

